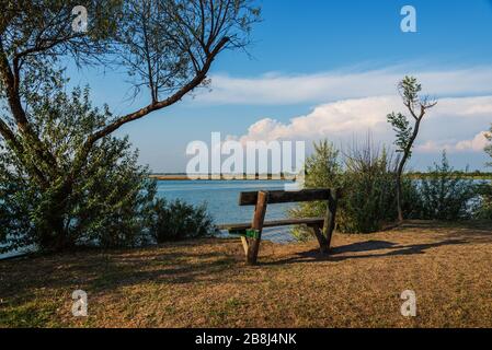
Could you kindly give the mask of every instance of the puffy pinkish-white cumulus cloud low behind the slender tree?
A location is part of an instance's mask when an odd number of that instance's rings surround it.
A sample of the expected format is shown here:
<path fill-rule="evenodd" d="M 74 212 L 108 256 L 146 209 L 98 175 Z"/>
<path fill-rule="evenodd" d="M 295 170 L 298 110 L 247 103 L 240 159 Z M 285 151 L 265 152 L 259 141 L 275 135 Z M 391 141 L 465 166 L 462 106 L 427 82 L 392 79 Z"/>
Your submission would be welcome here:
<path fill-rule="evenodd" d="M 387 124 L 390 112 L 405 113 L 399 96 L 350 98 L 314 107 L 309 114 L 288 122 L 263 118 L 248 132 L 237 137 L 241 142 L 272 140 L 320 140 L 351 142 L 370 132 L 378 141 L 391 143 L 393 131 Z M 477 126 L 490 124 L 492 95 L 451 97 L 439 100 L 438 105 L 424 119 L 417 151 L 482 151 L 484 132 L 477 135 Z"/>

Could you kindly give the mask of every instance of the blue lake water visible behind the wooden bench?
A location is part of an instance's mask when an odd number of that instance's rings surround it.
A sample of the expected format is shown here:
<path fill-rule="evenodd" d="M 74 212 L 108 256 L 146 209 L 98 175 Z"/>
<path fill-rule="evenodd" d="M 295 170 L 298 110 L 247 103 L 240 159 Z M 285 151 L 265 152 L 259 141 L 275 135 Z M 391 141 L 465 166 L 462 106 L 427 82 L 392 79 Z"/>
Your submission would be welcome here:
<path fill-rule="evenodd" d="M 158 196 L 182 199 L 188 203 L 206 202 L 216 224 L 250 222 L 254 207 L 239 207 L 241 191 L 284 189 L 284 180 L 162 180 L 158 182 Z M 291 203 L 272 205 L 266 209 L 265 220 L 287 217 Z M 288 228 L 265 229 L 263 238 L 286 243 L 294 241 Z"/>

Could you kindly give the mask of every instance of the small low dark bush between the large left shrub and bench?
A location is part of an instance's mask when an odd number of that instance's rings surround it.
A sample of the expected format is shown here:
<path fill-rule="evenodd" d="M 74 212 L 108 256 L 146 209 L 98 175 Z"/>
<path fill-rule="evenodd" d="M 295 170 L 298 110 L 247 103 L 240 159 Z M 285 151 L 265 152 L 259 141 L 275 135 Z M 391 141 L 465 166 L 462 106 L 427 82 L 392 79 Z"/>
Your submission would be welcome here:
<path fill-rule="evenodd" d="M 150 232 L 158 243 L 209 237 L 216 232 L 206 205 L 194 207 L 181 200 L 158 199 L 153 206 Z"/>

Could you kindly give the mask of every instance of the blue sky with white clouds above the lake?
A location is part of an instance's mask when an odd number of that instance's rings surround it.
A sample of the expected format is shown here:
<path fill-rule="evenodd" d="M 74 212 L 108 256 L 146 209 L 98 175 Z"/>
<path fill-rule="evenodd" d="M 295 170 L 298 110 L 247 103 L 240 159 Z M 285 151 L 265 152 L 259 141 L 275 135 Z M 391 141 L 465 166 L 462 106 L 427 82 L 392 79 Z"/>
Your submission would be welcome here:
<path fill-rule="evenodd" d="M 484 131 L 492 124 L 492 1 L 263 0 L 262 22 L 243 51 L 215 61 L 210 90 L 124 126 L 156 173 L 181 173 L 186 145 L 222 139 L 329 139 L 343 148 L 370 133 L 393 140 L 386 116 L 404 113 L 397 85 L 405 74 L 438 100 L 423 121 L 410 168 L 426 170 L 447 151 L 456 168 L 487 170 Z M 416 10 L 416 33 L 403 33 L 404 5 Z M 121 72 L 69 70 L 90 84 L 95 104 L 115 114 L 142 107 L 128 100 Z M 311 150 L 307 148 L 308 153 Z"/>

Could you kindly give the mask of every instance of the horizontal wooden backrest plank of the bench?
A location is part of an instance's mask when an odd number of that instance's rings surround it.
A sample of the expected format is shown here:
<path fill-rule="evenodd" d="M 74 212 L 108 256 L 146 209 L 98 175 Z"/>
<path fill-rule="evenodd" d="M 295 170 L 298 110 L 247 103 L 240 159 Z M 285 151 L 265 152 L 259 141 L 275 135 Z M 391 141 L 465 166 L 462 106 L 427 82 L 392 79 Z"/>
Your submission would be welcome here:
<path fill-rule="evenodd" d="M 239 206 L 255 206 L 259 191 L 241 192 Z M 267 203 L 289 203 L 301 201 L 329 200 L 330 189 L 302 189 L 298 191 L 267 190 Z"/>

